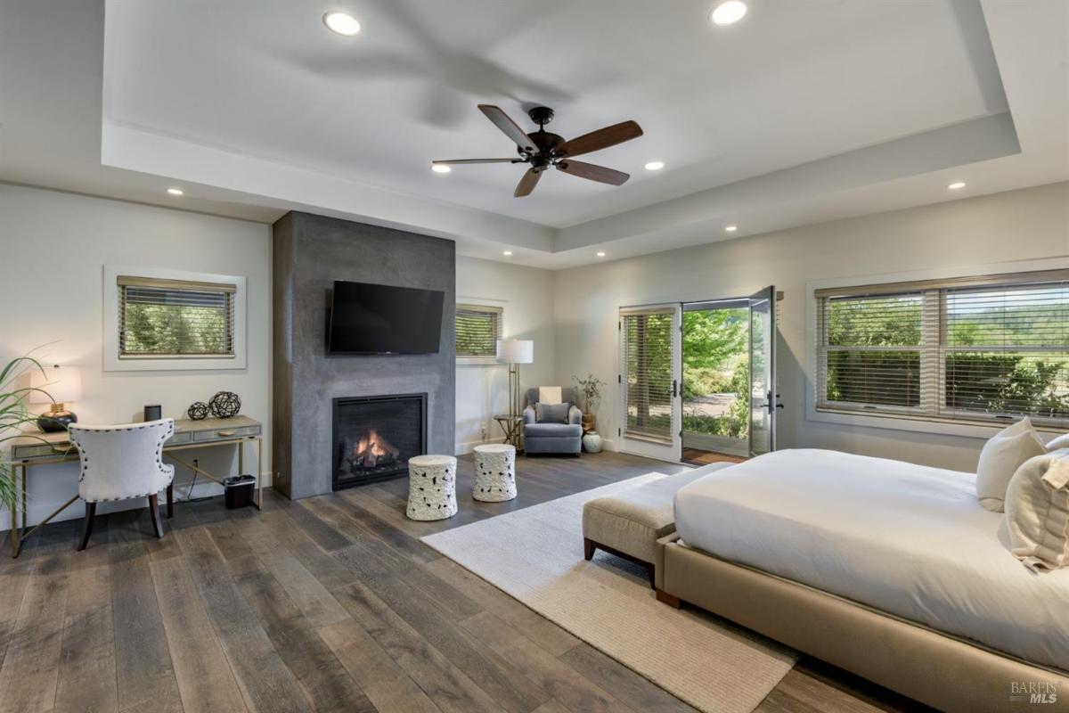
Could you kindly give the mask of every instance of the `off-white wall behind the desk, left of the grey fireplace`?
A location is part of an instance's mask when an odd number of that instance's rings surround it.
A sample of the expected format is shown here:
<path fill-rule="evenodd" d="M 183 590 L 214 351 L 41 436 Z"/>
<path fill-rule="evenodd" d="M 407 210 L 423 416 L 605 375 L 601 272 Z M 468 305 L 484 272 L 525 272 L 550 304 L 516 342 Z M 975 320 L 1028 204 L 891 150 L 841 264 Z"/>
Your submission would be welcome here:
<path fill-rule="evenodd" d="M 242 413 L 264 423 L 263 471 L 270 472 L 270 226 L 135 203 L 0 185 L 0 363 L 33 354 L 82 372 L 84 398 L 71 408 L 83 423 L 141 419 L 144 404 L 161 404 L 181 418 L 193 401 L 219 390 L 242 398 Z M 143 265 L 247 278 L 246 369 L 104 372 L 104 266 Z M 56 342 L 56 343 L 51 343 Z M 236 469 L 233 448 L 185 451 L 220 475 Z M 255 458 L 246 451 L 246 469 Z M 30 522 L 77 494 L 77 463 L 30 468 Z M 189 472 L 176 470 L 175 497 L 185 497 Z M 219 492 L 201 486 L 196 496 Z M 102 511 L 143 507 L 109 503 Z M 60 518 L 80 517 L 76 503 Z M 9 513 L 0 528 L 10 528 Z"/>

